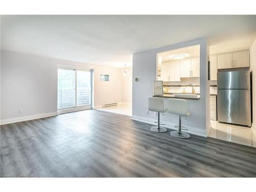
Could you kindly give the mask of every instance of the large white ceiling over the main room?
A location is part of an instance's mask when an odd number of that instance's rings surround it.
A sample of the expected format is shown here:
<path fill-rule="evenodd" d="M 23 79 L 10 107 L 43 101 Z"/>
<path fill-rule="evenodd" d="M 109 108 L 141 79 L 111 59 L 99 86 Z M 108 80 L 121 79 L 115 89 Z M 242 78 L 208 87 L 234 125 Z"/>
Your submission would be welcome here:
<path fill-rule="evenodd" d="M 133 53 L 200 37 L 208 37 L 212 53 L 248 49 L 256 16 L 1 16 L 1 49 L 118 68 L 131 66 Z"/>

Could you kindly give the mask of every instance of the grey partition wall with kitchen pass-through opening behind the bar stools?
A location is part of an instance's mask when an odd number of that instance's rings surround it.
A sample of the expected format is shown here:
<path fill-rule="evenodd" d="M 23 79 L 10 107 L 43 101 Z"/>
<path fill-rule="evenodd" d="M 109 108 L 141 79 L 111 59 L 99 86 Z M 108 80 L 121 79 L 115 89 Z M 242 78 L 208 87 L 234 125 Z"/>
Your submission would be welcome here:
<path fill-rule="evenodd" d="M 133 55 L 133 119 L 153 121 L 156 119 L 154 112 L 146 115 L 148 97 L 153 95 L 153 81 L 156 79 L 156 54 L 172 49 L 200 45 L 200 99 L 188 101 L 188 109 L 192 115 L 183 118 L 182 124 L 187 126 L 191 133 L 206 136 L 210 124 L 209 118 L 209 86 L 207 79 L 208 44 L 206 38 L 200 38 L 180 44 L 154 49 Z M 139 78 L 135 82 L 135 78 Z M 167 106 L 167 98 L 164 99 Z M 178 116 L 166 113 L 161 116 L 161 121 L 168 124 L 178 124 Z"/>

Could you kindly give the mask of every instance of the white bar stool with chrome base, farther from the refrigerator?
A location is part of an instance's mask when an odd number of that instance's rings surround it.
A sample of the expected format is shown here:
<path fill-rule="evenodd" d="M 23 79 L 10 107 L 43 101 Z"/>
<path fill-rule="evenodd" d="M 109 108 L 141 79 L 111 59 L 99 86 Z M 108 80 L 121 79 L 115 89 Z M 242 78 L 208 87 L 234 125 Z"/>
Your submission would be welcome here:
<path fill-rule="evenodd" d="M 152 126 L 150 130 L 157 133 L 167 132 L 166 128 L 160 127 L 160 113 L 165 113 L 167 111 L 167 109 L 164 108 L 163 98 L 159 98 L 159 97 L 148 98 L 148 110 L 158 112 L 157 126 Z"/>

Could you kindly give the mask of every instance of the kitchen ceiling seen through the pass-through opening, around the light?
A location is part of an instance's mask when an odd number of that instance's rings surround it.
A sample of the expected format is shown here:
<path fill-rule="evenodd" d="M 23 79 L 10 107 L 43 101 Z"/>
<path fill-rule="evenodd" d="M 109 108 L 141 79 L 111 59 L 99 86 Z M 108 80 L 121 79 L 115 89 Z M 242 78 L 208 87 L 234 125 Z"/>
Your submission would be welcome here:
<path fill-rule="evenodd" d="M 200 56 L 200 45 L 189 46 L 180 49 L 165 51 L 162 53 L 158 53 L 158 58 L 162 57 L 162 62 L 176 60 L 174 58 L 175 55 L 185 55 L 185 58 L 199 57 Z"/>

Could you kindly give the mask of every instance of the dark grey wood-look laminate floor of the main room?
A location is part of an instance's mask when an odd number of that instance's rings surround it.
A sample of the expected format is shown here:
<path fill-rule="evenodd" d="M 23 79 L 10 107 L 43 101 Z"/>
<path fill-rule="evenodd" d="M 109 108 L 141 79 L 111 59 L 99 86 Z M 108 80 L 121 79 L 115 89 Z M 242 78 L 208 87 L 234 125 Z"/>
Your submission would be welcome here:
<path fill-rule="evenodd" d="M 95 110 L 1 126 L 1 177 L 255 177 L 256 148 Z"/>

